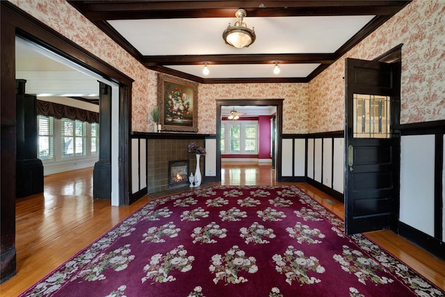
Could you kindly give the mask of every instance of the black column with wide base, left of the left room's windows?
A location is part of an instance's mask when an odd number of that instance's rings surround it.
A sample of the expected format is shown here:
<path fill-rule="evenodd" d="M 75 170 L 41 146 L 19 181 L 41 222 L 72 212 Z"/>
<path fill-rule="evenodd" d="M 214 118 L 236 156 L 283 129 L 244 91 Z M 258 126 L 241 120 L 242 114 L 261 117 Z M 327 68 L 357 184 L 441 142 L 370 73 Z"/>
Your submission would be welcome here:
<path fill-rule="evenodd" d="M 16 79 L 16 196 L 43 192 L 43 164 L 37 158 L 37 97 L 25 94 L 26 80 Z"/>

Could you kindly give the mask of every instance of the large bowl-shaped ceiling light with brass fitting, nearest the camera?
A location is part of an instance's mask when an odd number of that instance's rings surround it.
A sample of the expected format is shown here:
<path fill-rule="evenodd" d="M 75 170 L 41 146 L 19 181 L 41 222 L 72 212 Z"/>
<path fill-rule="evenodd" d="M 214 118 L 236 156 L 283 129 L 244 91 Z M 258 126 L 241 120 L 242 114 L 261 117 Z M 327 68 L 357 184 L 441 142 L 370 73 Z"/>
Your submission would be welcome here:
<path fill-rule="evenodd" d="M 242 8 L 236 10 L 235 16 L 238 17 L 238 21 L 236 21 L 234 26 L 230 26 L 229 23 L 229 26 L 223 32 L 223 39 L 227 45 L 241 49 L 242 47 L 252 45 L 255 38 L 257 38 L 254 28 L 248 28 L 245 22 L 243 22 L 243 18 L 246 15 L 247 13 Z"/>

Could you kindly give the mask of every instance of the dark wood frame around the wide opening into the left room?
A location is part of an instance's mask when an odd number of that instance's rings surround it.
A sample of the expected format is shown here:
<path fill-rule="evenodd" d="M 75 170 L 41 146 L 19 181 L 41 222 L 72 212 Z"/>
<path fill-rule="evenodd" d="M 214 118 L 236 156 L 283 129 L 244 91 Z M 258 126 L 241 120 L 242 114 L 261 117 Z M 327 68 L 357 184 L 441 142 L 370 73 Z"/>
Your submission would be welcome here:
<path fill-rule="evenodd" d="M 1 70 L 1 196 L 0 196 L 0 282 L 16 273 L 15 250 L 15 37 L 16 35 L 46 47 L 74 61 L 109 81 L 119 84 L 119 202 L 129 204 L 131 188 L 131 86 L 133 79 L 104 63 L 65 36 L 49 28 L 8 1 L 0 1 L 0 70 Z"/>

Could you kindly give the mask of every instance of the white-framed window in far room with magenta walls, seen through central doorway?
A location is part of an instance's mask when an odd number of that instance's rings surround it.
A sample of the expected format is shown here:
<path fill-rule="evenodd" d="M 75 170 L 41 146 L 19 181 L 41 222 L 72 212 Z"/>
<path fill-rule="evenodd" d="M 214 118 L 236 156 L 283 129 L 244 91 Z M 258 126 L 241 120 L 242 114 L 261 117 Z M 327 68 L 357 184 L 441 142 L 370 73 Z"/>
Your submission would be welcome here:
<path fill-rule="evenodd" d="M 257 154 L 257 121 L 223 121 L 221 124 L 221 154 Z"/>

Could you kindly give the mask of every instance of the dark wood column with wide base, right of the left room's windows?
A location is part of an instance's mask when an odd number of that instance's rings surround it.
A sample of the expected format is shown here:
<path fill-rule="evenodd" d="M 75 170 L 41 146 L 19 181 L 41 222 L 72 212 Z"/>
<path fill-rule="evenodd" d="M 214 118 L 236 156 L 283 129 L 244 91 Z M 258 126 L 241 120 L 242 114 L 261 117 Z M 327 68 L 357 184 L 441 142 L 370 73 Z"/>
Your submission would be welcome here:
<path fill-rule="evenodd" d="M 111 86 L 99 82 L 99 161 L 92 172 L 92 196 L 111 200 Z"/>

